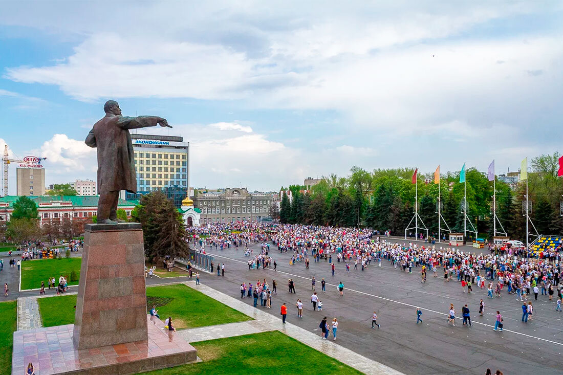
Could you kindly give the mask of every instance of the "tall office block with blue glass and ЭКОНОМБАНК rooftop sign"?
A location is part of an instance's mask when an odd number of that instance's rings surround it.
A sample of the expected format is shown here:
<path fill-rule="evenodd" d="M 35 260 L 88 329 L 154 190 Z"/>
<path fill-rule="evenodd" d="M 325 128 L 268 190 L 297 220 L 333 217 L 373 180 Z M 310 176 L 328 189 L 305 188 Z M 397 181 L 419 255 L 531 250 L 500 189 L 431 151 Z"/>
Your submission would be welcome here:
<path fill-rule="evenodd" d="M 126 199 L 140 199 L 151 191 L 162 191 L 180 208 L 190 186 L 190 144 L 182 137 L 132 134 L 135 153 L 137 194 Z"/>

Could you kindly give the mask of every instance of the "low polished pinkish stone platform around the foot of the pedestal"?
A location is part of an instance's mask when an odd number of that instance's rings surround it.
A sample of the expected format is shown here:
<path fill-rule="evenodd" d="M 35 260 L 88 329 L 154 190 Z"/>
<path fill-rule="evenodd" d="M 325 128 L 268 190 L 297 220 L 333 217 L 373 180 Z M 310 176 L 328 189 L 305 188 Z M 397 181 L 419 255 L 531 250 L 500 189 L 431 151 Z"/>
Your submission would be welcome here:
<path fill-rule="evenodd" d="M 196 349 L 177 332 L 164 330 L 160 320 L 148 322 L 148 339 L 78 350 L 74 325 L 14 332 L 12 374 L 25 374 L 33 363 L 36 374 L 135 374 L 198 361 Z"/>

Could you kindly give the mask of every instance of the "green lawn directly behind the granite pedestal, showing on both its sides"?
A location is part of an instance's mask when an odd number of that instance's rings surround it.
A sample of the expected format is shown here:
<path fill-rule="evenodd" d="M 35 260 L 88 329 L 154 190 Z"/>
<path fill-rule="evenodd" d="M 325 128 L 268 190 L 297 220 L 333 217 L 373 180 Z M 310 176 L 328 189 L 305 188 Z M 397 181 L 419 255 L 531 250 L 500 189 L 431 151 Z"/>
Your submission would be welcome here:
<path fill-rule="evenodd" d="M 177 329 L 252 319 L 184 284 L 150 287 L 146 289 L 146 294 L 148 308 L 157 305 L 160 319 L 164 321 L 172 316 Z M 43 327 L 74 323 L 76 294 L 39 298 L 37 301 Z"/>

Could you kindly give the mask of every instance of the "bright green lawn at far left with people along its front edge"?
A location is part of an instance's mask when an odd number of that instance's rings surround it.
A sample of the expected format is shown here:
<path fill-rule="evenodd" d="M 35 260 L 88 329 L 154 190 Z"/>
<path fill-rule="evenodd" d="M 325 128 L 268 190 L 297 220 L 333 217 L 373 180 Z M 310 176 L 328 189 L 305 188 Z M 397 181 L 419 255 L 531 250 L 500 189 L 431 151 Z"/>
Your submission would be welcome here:
<path fill-rule="evenodd" d="M 78 285 L 80 279 L 80 266 L 82 258 L 61 258 L 61 259 L 38 259 L 21 262 L 21 290 L 41 288 L 41 282 L 45 282 L 47 288 L 47 278 L 54 277 L 59 282 L 59 276 L 66 276 L 69 285 Z M 70 271 L 74 270 L 77 279 L 70 281 Z"/>

